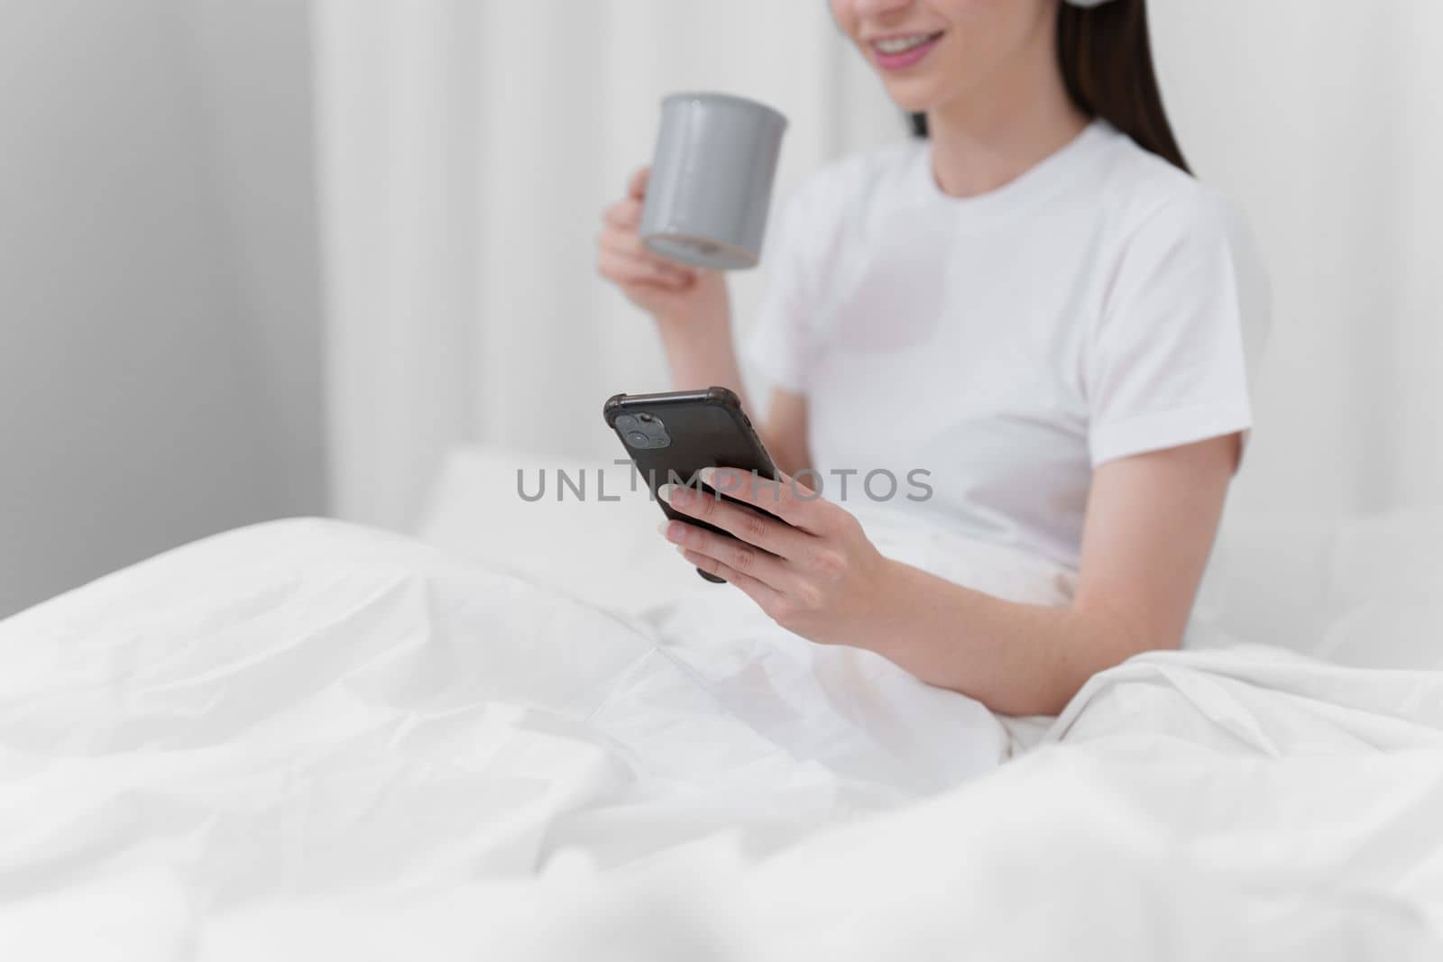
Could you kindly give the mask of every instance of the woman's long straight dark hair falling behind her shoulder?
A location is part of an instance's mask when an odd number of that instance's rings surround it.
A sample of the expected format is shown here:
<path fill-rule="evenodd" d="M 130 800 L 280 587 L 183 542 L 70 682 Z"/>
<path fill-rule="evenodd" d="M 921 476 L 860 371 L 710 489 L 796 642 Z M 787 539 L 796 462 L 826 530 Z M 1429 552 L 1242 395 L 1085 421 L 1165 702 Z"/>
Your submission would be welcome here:
<path fill-rule="evenodd" d="M 1146 0 L 1111 0 L 1097 7 L 1063 3 L 1058 10 L 1058 63 L 1078 110 L 1188 170 L 1157 89 Z M 912 133 L 926 137 L 926 114 L 911 120 Z"/>

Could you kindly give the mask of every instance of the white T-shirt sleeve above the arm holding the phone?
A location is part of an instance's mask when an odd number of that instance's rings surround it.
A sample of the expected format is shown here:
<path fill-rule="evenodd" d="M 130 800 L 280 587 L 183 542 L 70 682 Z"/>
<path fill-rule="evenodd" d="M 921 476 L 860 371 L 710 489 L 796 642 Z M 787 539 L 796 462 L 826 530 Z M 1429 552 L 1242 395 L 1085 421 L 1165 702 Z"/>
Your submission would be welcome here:
<path fill-rule="evenodd" d="M 1199 189 L 1133 232 L 1104 296 L 1085 376 L 1094 467 L 1251 427 L 1238 271 L 1221 199 Z"/>

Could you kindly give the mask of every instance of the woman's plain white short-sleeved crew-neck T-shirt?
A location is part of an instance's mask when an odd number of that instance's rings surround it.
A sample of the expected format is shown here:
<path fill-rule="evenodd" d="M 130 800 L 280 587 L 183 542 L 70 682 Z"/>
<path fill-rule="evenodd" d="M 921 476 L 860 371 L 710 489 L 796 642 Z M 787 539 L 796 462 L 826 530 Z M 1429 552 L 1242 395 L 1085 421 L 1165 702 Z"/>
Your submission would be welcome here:
<path fill-rule="evenodd" d="M 977 198 L 925 140 L 859 154 L 782 209 L 745 358 L 807 395 L 828 498 L 890 472 L 898 505 L 1076 568 L 1095 466 L 1251 424 L 1231 226 L 1104 121 Z"/>

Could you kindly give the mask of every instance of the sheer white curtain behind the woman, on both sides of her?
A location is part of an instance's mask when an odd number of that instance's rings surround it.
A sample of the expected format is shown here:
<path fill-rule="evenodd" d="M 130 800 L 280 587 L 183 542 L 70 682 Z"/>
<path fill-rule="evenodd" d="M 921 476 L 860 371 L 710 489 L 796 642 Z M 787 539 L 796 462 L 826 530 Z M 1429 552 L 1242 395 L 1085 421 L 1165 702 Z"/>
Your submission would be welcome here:
<path fill-rule="evenodd" d="M 332 506 L 405 526 L 453 441 L 613 456 L 600 404 L 665 385 L 592 267 L 657 101 L 734 91 L 792 125 L 778 196 L 902 133 L 821 0 L 313 0 Z M 1437 0 L 1153 0 L 1198 173 L 1247 211 L 1273 340 L 1240 498 L 1437 499 Z M 737 317 L 758 274 L 736 277 Z"/>

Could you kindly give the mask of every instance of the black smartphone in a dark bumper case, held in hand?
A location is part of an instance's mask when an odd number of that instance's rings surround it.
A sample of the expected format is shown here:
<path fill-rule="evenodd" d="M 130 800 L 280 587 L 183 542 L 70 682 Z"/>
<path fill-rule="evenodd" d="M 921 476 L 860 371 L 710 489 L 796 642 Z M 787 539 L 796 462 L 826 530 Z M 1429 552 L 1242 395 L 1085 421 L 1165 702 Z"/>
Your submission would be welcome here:
<path fill-rule="evenodd" d="M 703 467 L 740 467 L 776 480 L 776 466 L 742 411 L 742 401 L 726 388 L 618 394 L 606 400 L 602 415 L 616 431 L 636 470 L 646 480 L 652 498 L 668 518 L 680 518 L 730 538 L 730 534 L 714 525 L 674 511 L 657 498 L 657 489 L 667 483 L 690 485 L 716 496 L 717 492 L 697 480 L 697 472 Z M 769 515 L 724 493 L 720 498 Z M 697 574 L 707 581 L 723 581 L 701 568 L 697 568 Z"/>

